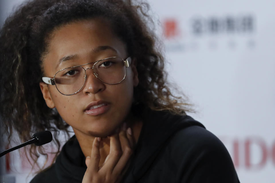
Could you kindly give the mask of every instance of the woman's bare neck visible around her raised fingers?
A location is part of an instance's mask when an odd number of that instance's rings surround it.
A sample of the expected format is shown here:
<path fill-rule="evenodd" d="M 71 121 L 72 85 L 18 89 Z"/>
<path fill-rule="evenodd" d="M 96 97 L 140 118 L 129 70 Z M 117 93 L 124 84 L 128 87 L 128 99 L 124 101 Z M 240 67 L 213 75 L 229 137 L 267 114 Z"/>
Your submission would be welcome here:
<path fill-rule="evenodd" d="M 136 144 L 140 136 L 143 123 L 141 121 L 135 120 L 135 122 L 132 122 L 131 124 L 127 124 L 127 125 L 131 128 L 134 144 Z M 84 156 L 85 157 L 91 156 L 92 144 L 95 139 L 95 136 L 83 134 L 76 129 L 73 129 L 73 130 Z M 105 161 L 106 157 L 109 154 L 109 151 L 110 151 L 110 138 L 109 137 L 102 138 L 101 144 L 100 144 L 99 166 L 102 166 L 103 162 Z"/>

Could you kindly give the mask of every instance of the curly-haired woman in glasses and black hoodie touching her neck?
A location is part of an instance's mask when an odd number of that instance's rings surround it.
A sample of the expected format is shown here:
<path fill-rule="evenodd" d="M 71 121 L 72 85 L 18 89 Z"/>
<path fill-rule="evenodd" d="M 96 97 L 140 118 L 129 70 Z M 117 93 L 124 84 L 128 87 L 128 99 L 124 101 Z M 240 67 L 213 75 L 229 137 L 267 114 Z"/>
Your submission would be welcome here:
<path fill-rule="evenodd" d="M 223 144 L 171 94 L 147 10 L 122 0 L 34 0 L 5 22 L 6 132 L 25 141 L 47 129 L 58 149 L 60 130 L 75 134 L 32 183 L 239 182 Z M 30 153 L 36 160 L 35 147 Z"/>

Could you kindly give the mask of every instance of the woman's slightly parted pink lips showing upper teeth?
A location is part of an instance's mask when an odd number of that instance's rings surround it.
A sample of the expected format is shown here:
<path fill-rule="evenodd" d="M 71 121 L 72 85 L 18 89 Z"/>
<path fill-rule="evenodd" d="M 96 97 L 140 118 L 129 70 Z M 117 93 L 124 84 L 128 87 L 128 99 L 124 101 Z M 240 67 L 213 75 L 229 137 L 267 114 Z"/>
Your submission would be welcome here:
<path fill-rule="evenodd" d="M 110 103 L 100 100 L 97 102 L 91 102 L 84 112 L 89 115 L 99 115 L 107 112 L 109 109 Z"/>

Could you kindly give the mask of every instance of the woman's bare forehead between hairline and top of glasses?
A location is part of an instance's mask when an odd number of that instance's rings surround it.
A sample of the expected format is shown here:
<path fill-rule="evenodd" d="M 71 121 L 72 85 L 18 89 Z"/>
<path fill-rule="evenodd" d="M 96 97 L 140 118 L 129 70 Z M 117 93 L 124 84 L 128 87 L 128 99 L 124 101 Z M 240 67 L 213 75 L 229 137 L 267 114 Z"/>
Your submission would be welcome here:
<path fill-rule="evenodd" d="M 68 66 L 68 63 L 70 66 L 81 65 L 105 56 L 126 57 L 125 43 L 110 27 L 104 19 L 91 19 L 56 28 L 48 39 L 48 51 L 43 59 L 44 71 L 52 73 Z M 62 58 L 70 55 L 75 56 L 72 61 L 60 63 Z"/>

